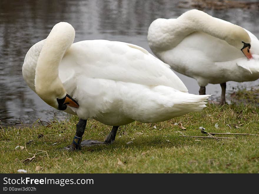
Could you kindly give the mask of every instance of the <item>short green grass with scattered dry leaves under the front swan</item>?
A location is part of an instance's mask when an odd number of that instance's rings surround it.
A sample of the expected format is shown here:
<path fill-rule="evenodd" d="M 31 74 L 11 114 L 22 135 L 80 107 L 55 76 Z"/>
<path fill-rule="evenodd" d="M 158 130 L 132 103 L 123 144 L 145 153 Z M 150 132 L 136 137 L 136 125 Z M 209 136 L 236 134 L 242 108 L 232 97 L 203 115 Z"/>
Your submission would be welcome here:
<path fill-rule="evenodd" d="M 207 106 L 202 112 L 165 122 L 121 126 L 114 144 L 75 152 L 62 148 L 72 142 L 77 117 L 49 126 L 2 129 L 0 173 L 17 173 L 18 169 L 28 173 L 259 173 L 259 136 L 228 135 L 235 138 L 225 140 L 179 137 L 206 136 L 200 126 L 207 132 L 259 134 L 257 106 Z M 175 122 L 182 122 L 186 130 Z M 109 130 L 110 126 L 89 120 L 83 139 L 103 141 Z M 133 143 L 126 144 L 129 141 Z M 17 145 L 26 147 L 15 149 Z M 34 154 L 34 160 L 24 162 Z M 41 168 L 35 171 L 36 166 Z"/>

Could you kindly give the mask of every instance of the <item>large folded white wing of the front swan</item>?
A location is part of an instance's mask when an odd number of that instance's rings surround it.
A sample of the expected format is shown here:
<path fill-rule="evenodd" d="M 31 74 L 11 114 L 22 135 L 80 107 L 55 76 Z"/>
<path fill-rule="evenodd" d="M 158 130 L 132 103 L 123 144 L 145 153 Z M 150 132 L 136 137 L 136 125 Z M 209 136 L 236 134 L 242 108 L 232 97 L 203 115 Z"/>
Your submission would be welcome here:
<path fill-rule="evenodd" d="M 179 77 L 142 47 L 124 42 L 87 40 L 72 44 L 62 59 L 61 80 L 74 70 L 85 77 L 144 85 L 164 85 L 187 92 Z M 67 74 L 67 75 L 65 75 Z"/>

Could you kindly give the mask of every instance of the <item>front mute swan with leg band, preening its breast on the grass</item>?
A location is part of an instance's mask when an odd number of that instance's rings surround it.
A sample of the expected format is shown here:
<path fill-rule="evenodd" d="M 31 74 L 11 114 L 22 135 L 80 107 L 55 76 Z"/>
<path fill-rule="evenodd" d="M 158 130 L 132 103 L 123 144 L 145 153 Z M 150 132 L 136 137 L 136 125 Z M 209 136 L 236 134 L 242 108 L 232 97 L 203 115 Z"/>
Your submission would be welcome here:
<path fill-rule="evenodd" d="M 22 74 L 48 105 L 77 115 L 67 149 L 113 143 L 117 129 L 135 120 L 150 123 L 200 111 L 210 95 L 189 94 L 182 81 L 142 47 L 108 40 L 73 43 L 74 28 L 56 24 L 27 52 Z M 113 126 L 104 142 L 82 140 L 87 119 Z"/>

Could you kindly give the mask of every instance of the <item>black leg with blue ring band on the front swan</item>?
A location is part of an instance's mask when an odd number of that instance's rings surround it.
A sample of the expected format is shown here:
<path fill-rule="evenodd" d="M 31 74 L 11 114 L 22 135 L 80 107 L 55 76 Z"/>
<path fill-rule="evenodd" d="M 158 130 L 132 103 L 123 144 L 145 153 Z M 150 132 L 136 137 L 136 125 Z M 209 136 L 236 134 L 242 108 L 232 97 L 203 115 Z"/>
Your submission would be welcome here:
<path fill-rule="evenodd" d="M 87 120 L 79 119 L 77 123 L 77 131 L 76 135 L 73 138 L 73 142 L 71 145 L 67 146 L 67 150 L 80 150 L 80 145 L 82 141 L 82 136 L 84 135 L 84 130 L 86 126 Z"/>

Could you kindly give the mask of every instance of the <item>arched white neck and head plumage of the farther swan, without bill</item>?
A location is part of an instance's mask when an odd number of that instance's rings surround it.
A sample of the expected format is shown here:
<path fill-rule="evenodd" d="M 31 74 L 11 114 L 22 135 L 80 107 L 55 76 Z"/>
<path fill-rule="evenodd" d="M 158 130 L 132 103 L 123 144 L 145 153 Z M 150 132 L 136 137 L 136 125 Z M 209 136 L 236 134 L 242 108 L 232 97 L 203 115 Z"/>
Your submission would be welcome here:
<path fill-rule="evenodd" d="M 192 9 L 177 19 L 157 19 L 150 24 L 148 41 L 153 51 L 176 47 L 186 36 L 195 31 L 205 32 L 228 44 L 242 49 L 243 42 L 250 43 L 248 33 L 240 26 Z M 202 46 L 202 42 L 201 42 Z"/>

